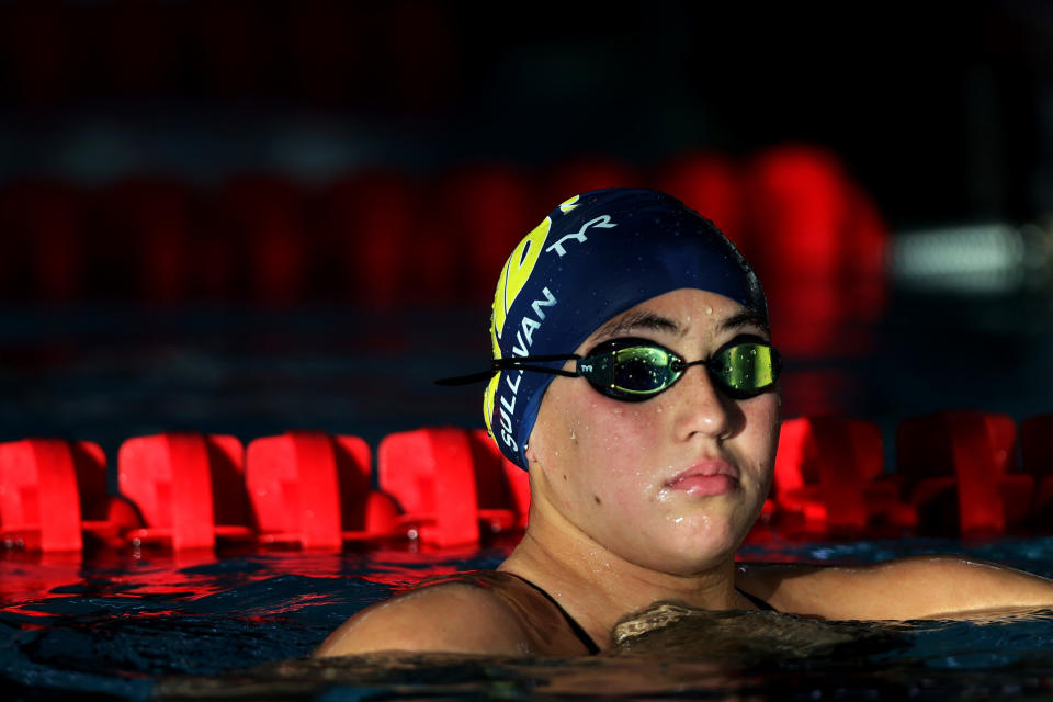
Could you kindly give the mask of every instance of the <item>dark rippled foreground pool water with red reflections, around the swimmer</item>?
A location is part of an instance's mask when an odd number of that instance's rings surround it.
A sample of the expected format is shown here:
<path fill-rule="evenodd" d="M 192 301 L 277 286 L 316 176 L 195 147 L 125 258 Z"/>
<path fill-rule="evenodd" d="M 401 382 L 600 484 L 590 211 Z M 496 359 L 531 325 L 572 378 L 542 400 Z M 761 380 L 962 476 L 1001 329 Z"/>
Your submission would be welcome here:
<path fill-rule="evenodd" d="M 308 659 L 341 622 L 477 551 L 0 561 L 0 686 L 16 699 L 1053 697 L 1053 611 L 984 622 L 826 623 L 695 613 L 601 656 Z M 1053 537 L 749 545 L 748 561 L 960 553 L 1053 577 Z"/>

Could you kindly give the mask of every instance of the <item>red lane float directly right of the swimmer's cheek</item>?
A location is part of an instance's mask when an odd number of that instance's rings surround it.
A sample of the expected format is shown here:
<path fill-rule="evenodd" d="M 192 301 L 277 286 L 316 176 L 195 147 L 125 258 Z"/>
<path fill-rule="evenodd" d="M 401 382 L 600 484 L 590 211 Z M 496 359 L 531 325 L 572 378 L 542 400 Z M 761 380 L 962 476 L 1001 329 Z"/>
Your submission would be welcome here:
<path fill-rule="evenodd" d="M 805 534 L 895 535 L 915 526 L 884 473 L 881 429 L 841 417 L 782 423 L 775 456 L 780 529 Z"/>

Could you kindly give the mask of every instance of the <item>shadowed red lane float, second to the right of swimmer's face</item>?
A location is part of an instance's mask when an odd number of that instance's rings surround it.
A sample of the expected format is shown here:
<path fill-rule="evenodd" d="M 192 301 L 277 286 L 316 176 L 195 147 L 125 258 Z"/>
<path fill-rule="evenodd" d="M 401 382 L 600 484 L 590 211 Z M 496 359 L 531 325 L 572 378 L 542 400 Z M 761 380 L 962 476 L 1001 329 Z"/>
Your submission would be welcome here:
<path fill-rule="evenodd" d="M 1003 534 L 1028 516 L 1034 479 L 1016 467 L 1011 417 L 975 410 L 904 419 L 897 474 L 922 533 Z"/>

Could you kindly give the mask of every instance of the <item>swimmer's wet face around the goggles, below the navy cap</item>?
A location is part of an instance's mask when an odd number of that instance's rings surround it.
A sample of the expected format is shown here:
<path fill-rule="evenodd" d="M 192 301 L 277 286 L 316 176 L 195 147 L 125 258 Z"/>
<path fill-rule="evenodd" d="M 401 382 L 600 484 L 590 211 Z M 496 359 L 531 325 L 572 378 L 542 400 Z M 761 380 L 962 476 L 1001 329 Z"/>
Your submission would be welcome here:
<path fill-rule="evenodd" d="M 697 361 L 743 335 L 769 338 L 738 303 L 684 288 L 619 315 L 576 353 L 636 337 Z M 585 378 L 557 377 L 526 456 L 532 489 L 543 494 L 535 499 L 591 540 L 636 565 L 692 575 L 731 557 L 756 521 L 778 433 L 778 390 L 732 399 L 702 365 L 641 403 L 601 395 Z"/>

